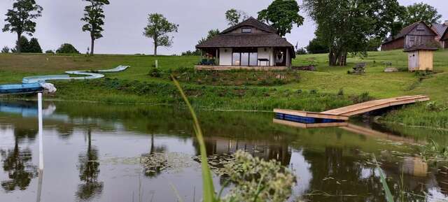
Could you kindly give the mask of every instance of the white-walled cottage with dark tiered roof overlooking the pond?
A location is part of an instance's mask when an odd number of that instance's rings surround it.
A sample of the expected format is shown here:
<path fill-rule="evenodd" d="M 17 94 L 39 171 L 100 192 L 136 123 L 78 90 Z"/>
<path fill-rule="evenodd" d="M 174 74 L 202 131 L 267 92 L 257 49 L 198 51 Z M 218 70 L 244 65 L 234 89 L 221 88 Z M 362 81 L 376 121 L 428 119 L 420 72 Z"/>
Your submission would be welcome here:
<path fill-rule="evenodd" d="M 197 69 L 283 70 L 295 58 L 294 46 L 276 29 L 253 17 L 225 29 L 196 48 L 202 52 Z"/>

